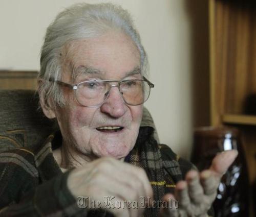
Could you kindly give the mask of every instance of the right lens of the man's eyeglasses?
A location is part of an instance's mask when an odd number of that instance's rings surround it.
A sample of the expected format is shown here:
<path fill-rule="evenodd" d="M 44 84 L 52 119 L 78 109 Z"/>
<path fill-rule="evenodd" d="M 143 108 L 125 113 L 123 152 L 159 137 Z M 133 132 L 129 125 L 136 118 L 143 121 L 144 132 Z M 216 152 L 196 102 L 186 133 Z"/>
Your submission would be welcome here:
<path fill-rule="evenodd" d="M 125 103 L 135 106 L 144 103 L 148 99 L 150 85 L 141 80 L 122 81 L 120 91 Z"/>

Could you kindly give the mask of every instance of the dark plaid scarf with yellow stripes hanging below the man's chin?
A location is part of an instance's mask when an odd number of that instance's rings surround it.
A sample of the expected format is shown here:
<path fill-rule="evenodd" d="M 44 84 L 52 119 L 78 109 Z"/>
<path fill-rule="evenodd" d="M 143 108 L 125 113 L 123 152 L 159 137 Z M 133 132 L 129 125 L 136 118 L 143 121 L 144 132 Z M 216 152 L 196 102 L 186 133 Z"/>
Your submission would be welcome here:
<path fill-rule="evenodd" d="M 175 174 L 169 176 L 166 172 L 160 152 L 160 146 L 158 146 L 157 141 L 154 139 L 153 132 L 153 128 L 140 128 L 135 147 L 130 154 L 126 156 L 125 162 L 142 167 L 145 170 L 153 188 L 154 201 L 160 201 L 166 192 L 173 192 L 175 183 L 172 176 Z M 170 162 L 172 161 L 172 159 L 168 160 Z M 170 170 L 170 172 L 173 173 L 172 170 Z M 181 174 L 181 171 L 176 171 L 176 173 Z M 146 209 L 144 216 L 159 216 L 159 208 Z"/>

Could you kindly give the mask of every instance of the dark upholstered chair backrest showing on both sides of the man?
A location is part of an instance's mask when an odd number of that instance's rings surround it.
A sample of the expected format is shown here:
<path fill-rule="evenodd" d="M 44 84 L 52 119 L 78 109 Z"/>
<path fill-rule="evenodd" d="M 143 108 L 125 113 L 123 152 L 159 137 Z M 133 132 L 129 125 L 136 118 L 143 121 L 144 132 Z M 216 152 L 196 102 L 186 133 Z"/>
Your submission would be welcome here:
<path fill-rule="evenodd" d="M 0 90 L 0 151 L 38 146 L 56 129 L 56 122 L 38 109 L 34 90 Z M 141 126 L 155 125 L 151 114 L 143 108 Z M 155 138 L 158 135 L 155 130 Z"/>

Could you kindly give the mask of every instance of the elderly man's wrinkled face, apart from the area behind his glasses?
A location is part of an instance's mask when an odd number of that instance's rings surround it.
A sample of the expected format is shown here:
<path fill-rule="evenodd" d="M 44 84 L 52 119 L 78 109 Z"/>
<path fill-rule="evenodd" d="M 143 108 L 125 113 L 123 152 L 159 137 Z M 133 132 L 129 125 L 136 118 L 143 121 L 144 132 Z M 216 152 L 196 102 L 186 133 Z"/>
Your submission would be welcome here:
<path fill-rule="evenodd" d="M 141 79 L 136 70 L 140 68 L 139 51 L 130 37 L 120 32 L 73 41 L 64 47 L 61 56 L 63 82 Z M 87 68 L 93 73 L 86 72 Z M 74 90 L 63 88 L 63 93 L 66 106 L 55 112 L 63 146 L 79 155 L 117 159 L 132 150 L 139 132 L 142 105 L 126 105 L 117 87 L 112 87 L 108 99 L 96 108 L 81 106 Z M 120 128 L 111 130 L 110 127 Z"/>

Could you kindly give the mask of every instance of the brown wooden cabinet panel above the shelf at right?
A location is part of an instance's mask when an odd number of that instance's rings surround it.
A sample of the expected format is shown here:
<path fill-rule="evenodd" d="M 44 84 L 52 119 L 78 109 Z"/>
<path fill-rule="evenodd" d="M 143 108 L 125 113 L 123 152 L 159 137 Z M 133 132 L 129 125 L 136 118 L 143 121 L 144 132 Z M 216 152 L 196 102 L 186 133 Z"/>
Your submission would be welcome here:
<path fill-rule="evenodd" d="M 256 3 L 210 1 L 212 124 L 220 115 L 244 112 L 256 93 Z"/>

